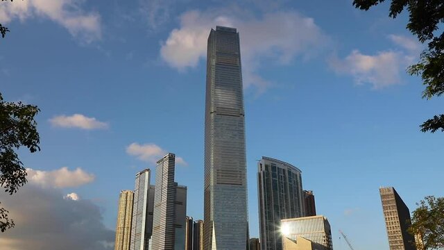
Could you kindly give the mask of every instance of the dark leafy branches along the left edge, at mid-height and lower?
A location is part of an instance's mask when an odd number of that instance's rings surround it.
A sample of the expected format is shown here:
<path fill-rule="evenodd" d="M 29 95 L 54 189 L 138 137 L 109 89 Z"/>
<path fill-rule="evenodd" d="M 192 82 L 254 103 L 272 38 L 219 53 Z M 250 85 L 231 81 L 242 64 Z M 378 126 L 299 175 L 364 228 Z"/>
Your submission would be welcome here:
<path fill-rule="evenodd" d="M 26 168 L 15 151 L 22 146 L 31 153 L 40 151 L 34 120 L 39 111 L 37 106 L 3 101 L 0 93 L 0 187 L 9 194 L 14 194 L 26 183 Z M 0 208 L 0 231 L 12 226 L 14 222 L 8 219 L 8 211 Z"/>

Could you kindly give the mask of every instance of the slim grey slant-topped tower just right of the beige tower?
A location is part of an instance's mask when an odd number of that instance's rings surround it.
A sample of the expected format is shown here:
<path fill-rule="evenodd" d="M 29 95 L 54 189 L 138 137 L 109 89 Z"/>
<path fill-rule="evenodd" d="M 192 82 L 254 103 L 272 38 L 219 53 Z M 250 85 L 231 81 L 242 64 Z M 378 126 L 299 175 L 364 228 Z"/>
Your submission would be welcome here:
<path fill-rule="evenodd" d="M 136 174 L 130 250 L 147 250 L 153 233 L 154 186 L 150 178 L 150 169 Z"/>

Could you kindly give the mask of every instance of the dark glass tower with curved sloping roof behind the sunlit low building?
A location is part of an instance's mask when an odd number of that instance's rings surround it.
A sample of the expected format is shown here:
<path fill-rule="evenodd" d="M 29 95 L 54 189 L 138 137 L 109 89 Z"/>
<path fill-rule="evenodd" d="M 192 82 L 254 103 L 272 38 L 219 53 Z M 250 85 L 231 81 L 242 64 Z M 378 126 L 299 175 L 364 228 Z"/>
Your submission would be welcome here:
<path fill-rule="evenodd" d="M 264 156 L 257 169 L 261 249 L 281 250 L 281 219 L 304 216 L 301 172 L 289 163 Z"/>

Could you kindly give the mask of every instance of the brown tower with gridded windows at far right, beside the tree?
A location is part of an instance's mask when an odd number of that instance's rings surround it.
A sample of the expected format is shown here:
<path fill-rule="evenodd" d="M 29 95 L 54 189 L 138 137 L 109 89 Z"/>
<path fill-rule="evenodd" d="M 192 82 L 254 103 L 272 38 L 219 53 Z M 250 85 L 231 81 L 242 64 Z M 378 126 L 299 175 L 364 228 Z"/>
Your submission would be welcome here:
<path fill-rule="evenodd" d="M 409 208 L 392 187 L 379 188 L 379 194 L 381 194 L 390 250 L 416 250 L 415 239 L 407 232 L 407 228 L 411 226 Z"/>

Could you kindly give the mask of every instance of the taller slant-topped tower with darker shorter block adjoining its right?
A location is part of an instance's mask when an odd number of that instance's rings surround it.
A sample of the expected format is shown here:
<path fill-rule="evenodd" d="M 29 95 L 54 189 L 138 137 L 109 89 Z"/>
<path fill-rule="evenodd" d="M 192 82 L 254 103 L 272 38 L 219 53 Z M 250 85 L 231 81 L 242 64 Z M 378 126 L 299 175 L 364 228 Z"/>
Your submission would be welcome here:
<path fill-rule="evenodd" d="M 187 187 L 174 182 L 176 156 L 157 161 L 153 213 L 153 250 L 185 249 Z"/>

